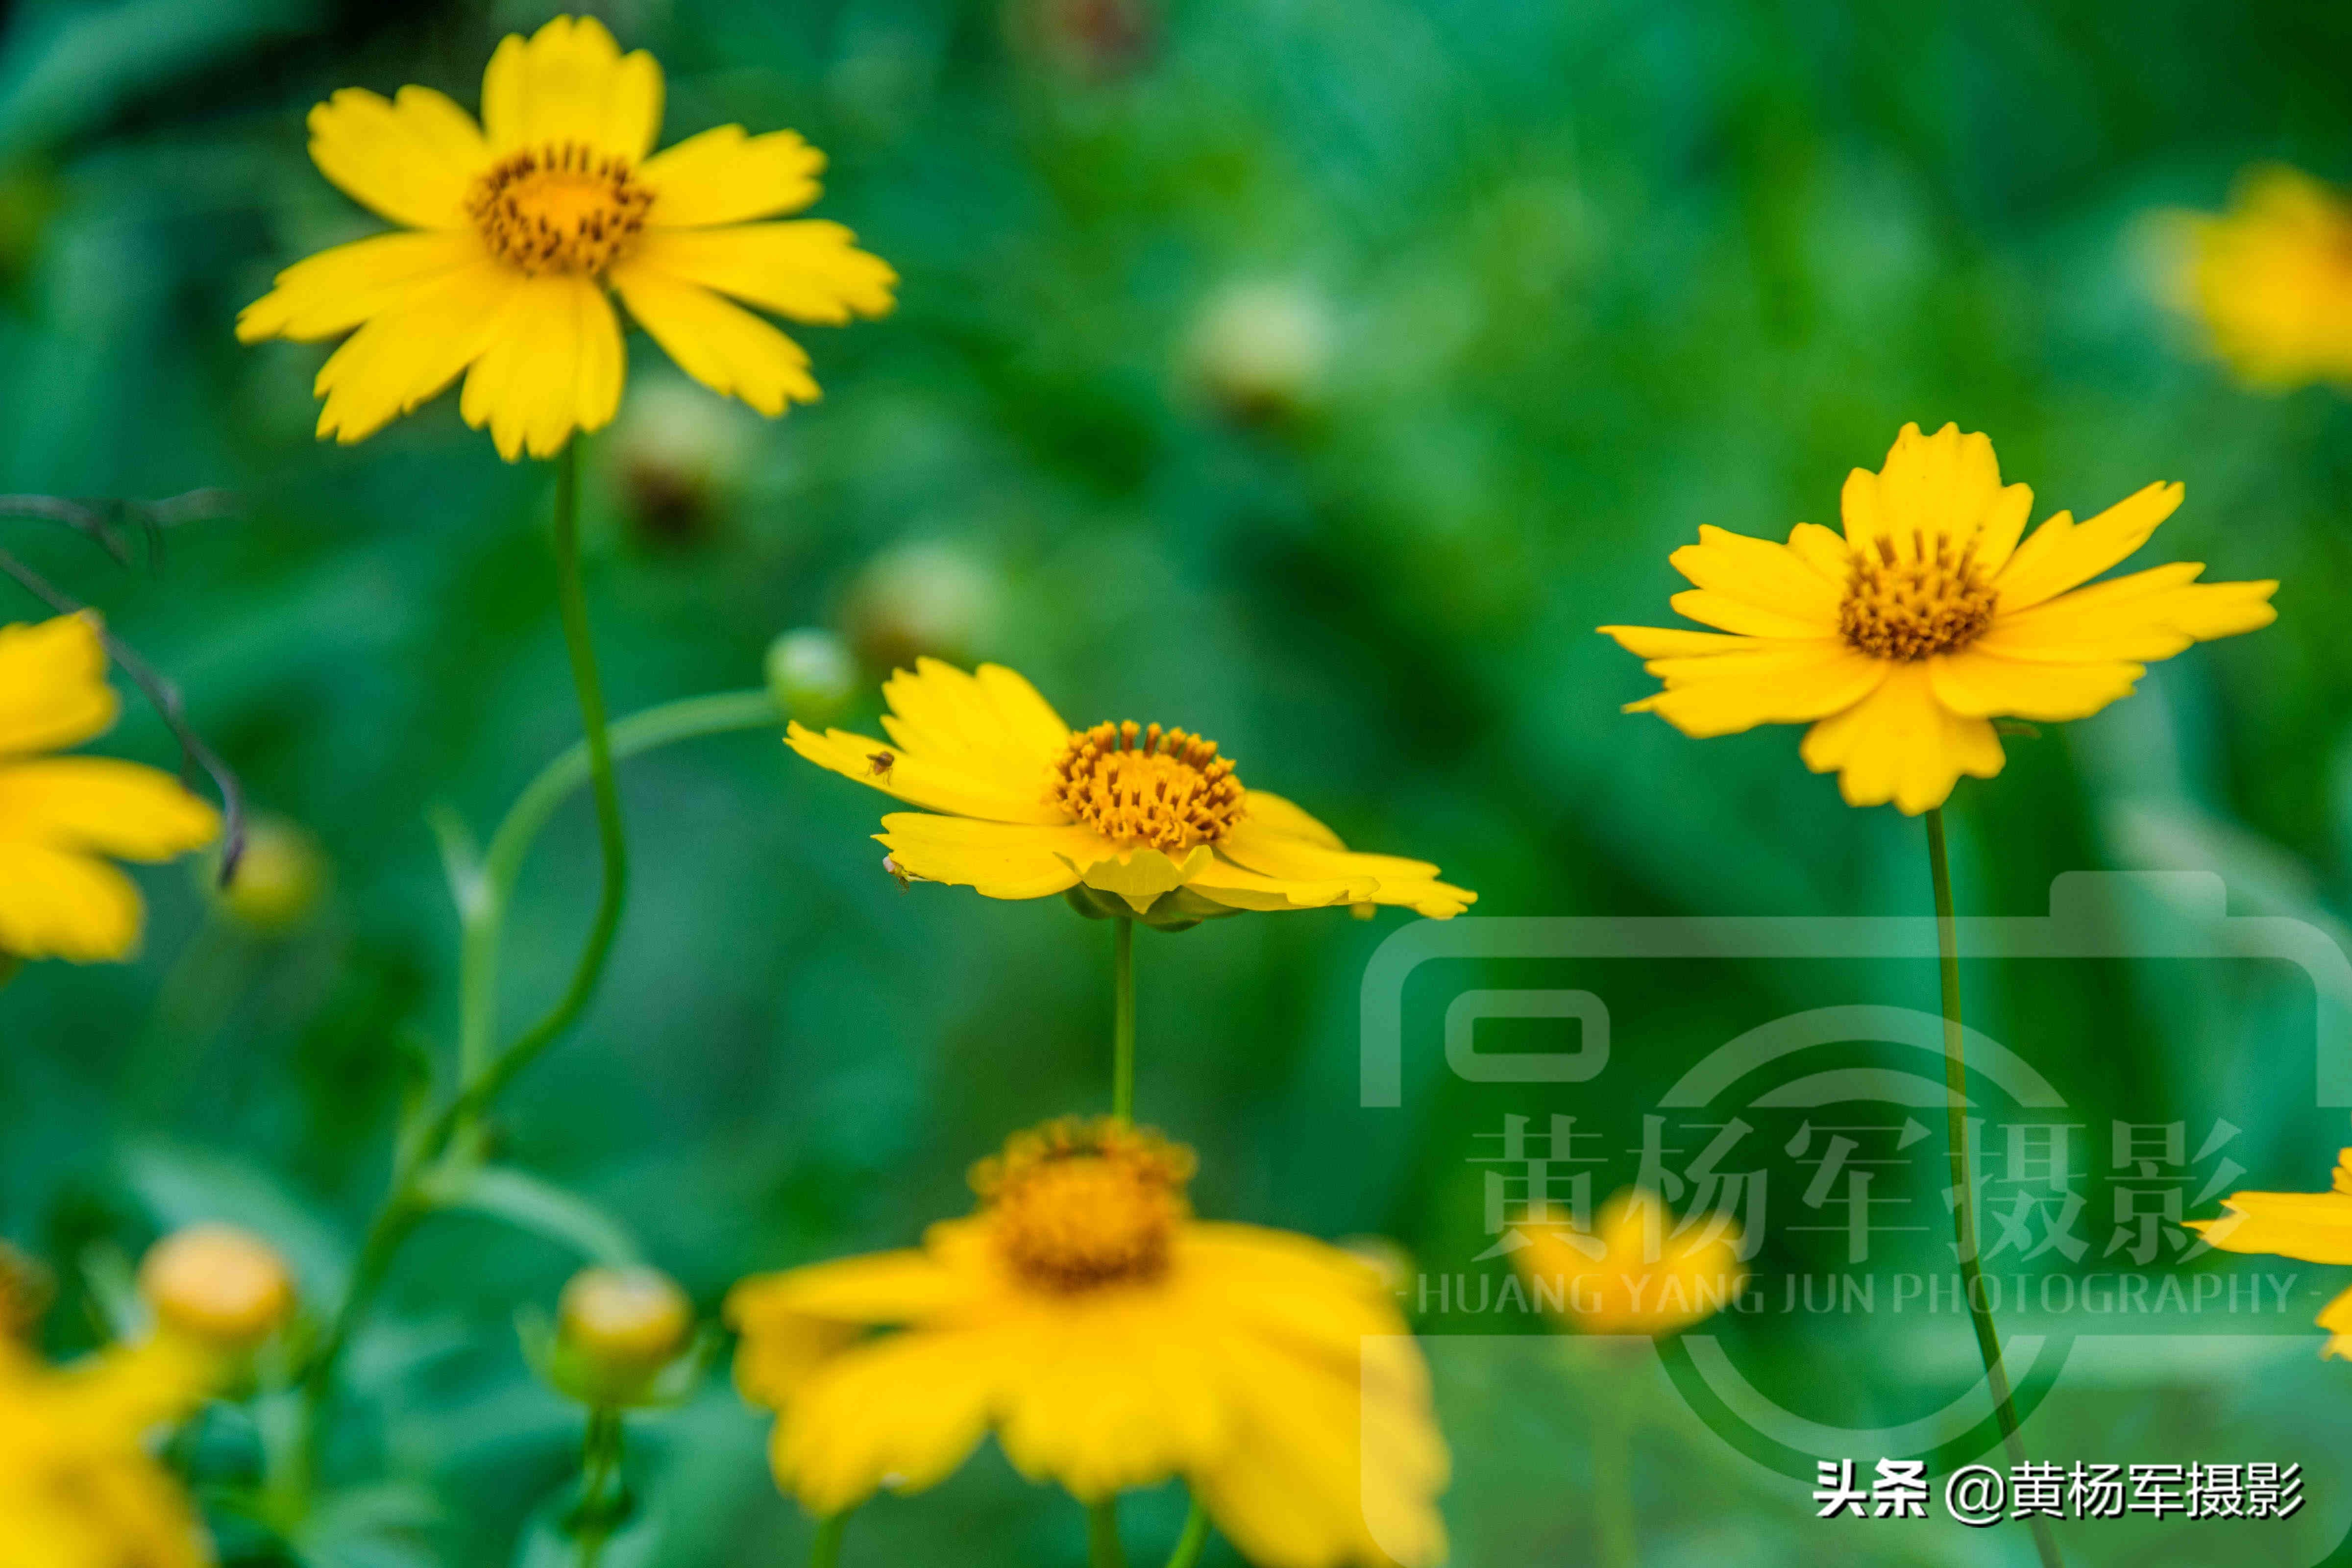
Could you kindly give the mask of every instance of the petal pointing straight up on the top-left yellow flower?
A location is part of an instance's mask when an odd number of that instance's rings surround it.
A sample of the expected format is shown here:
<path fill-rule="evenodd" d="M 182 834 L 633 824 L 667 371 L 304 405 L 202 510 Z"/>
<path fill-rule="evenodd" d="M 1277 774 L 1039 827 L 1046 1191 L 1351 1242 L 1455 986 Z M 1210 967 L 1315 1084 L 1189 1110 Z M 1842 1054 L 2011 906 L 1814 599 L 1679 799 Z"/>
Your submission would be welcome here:
<path fill-rule="evenodd" d="M 482 129 L 501 155 L 569 141 L 637 162 L 661 134 L 661 66 L 623 56 L 595 16 L 557 16 L 489 56 Z"/>

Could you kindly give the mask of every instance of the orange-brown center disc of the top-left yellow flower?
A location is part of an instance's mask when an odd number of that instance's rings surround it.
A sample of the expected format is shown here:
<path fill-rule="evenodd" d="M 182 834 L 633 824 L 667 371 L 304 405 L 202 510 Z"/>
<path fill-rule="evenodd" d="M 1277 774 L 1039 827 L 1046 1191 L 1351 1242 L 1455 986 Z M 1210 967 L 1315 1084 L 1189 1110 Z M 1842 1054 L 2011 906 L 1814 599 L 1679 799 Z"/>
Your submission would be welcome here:
<path fill-rule="evenodd" d="M 597 275 L 654 205 L 626 158 L 579 141 L 508 153 L 466 195 L 489 249 L 524 273 Z"/>

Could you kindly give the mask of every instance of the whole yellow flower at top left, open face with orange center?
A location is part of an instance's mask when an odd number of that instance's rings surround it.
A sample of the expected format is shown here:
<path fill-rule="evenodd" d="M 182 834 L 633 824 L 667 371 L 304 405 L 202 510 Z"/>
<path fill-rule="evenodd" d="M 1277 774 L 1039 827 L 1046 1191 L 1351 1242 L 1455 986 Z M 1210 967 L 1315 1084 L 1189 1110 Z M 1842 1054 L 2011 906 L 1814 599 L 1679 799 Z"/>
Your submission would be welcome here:
<path fill-rule="evenodd" d="M 553 456 L 621 407 L 628 313 L 677 364 L 762 414 L 814 402 L 809 355 L 731 303 L 797 322 L 891 308 L 896 273 L 840 223 L 753 223 L 816 200 L 823 155 L 741 125 L 654 153 L 661 66 L 593 16 L 508 38 L 482 122 L 428 87 L 346 87 L 310 110 L 310 158 L 412 233 L 320 252 L 278 275 L 238 336 L 332 339 L 320 437 L 367 440 L 459 371 L 459 411 L 499 451 Z M 649 158 L 649 153 L 654 153 Z M 358 331 L 353 331 L 358 327 Z"/>

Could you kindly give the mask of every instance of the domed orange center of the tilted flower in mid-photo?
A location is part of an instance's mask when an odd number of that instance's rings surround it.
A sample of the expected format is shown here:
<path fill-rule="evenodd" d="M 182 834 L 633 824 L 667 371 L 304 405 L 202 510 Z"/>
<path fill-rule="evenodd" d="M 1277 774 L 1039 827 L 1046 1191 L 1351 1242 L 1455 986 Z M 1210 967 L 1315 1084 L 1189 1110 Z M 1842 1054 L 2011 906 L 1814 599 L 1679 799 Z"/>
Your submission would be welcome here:
<path fill-rule="evenodd" d="M 1169 851 L 1216 844 L 1242 820 L 1242 780 L 1216 741 L 1134 719 L 1073 733 L 1047 799 L 1105 839 Z"/>

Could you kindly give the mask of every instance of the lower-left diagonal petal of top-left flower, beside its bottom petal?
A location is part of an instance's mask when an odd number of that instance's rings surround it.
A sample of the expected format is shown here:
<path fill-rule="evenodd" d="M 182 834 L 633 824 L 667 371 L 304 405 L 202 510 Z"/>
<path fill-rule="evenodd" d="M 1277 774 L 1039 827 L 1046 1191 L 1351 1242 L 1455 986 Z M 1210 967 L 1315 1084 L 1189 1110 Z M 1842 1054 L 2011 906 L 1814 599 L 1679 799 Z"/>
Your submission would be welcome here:
<path fill-rule="evenodd" d="M 362 442 L 437 397 L 489 353 L 527 287 L 487 256 L 409 284 L 320 367 L 320 440 Z"/>

